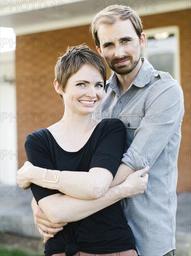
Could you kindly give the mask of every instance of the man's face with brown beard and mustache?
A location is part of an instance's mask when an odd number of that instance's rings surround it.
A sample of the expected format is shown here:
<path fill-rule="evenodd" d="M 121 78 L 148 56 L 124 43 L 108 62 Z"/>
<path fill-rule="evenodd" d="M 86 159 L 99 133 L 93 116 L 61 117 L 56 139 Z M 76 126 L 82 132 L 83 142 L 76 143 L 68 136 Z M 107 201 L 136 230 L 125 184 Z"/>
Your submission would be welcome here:
<path fill-rule="evenodd" d="M 144 45 L 145 34 L 142 33 L 139 38 L 129 19 L 103 24 L 97 32 L 100 47 L 96 48 L 108 66 L 117 74 L 132 72 L 140 62 L 140 49 Z"/>

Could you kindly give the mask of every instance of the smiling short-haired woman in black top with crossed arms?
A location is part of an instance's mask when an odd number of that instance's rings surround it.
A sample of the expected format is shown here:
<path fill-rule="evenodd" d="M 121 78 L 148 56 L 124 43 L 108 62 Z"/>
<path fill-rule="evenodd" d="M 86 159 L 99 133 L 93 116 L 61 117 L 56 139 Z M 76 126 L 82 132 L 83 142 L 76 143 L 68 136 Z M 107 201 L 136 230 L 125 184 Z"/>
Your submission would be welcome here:
<path fill-rule="evenodd" d="M 52 205 L 47 200 L 55 194 L 83 200 L 104 195 L 120 165 L 126 136 L 120 120 L 91 118 L 106 83 L 106 69 L 98 54 L 87 46 L 69 47 L 57 61 L 55 77 L 55 90 L 64 100 L 64 117 L 27 136 L 25 150 L 35 166 L 21 168 L 17 177 L 20 187 L 31 186 L 50 218 Z M 45 256 L 92 254 L 137 255 L 120 202 L 68 223 L 45 243 Z"/>

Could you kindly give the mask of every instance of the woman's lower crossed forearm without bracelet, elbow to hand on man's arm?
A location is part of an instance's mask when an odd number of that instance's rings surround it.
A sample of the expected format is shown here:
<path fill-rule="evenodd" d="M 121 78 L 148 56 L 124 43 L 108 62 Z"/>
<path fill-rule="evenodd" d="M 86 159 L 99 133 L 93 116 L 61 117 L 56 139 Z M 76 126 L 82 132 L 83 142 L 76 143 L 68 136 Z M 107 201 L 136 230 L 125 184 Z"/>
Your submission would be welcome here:
<path fill-rule="evenodd" d="M 148 169 L 144 168 L 128 175 L 127 179 L 121 184 L 109 188 L 104 193 L 102 191 L 102 197 L 96 200 L 82 200 L 68 195 L 57 194 L 42 198 L 38 204 L 52 223 L 78 221 L 125 197 L 144 193 L 148 181 L 148 175 L 146 174 Z M 141 177 L 143 174 L 146 175 Z M 134 194 L 134 188 L 136 188 L 136 194 Z M 96 193 L 99 193 L 99 189 L 97 189 Z"/>

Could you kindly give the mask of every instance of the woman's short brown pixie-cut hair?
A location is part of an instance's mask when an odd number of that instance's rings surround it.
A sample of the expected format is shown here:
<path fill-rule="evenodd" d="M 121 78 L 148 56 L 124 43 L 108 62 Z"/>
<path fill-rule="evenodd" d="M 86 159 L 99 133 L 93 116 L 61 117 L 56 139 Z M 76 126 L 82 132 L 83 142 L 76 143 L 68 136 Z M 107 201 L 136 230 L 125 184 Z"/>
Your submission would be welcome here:
<path fill-rule="evenodd" d="M 106 67 L 99 54 L 85 44 L 68 47 L 65 54 L 58 58 L 55 66 L 55 79 L 60 88 L 65 89 L 67 80 L 75 74 L 84 64 L 96 68 L 102 75 L 104 88 L 106 84 Z M 60 95 L 61 98 L 62 95 Z"/>

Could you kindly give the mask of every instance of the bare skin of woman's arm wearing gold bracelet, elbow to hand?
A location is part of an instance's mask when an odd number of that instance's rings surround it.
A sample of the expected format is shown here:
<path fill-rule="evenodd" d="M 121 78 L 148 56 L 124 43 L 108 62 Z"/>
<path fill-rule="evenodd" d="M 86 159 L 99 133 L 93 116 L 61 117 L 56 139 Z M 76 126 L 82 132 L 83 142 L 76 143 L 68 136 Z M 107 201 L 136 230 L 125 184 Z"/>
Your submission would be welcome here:
<path fill-rule="evenodd" d="M 108 190 L 112 180 L 112 173 L 105 168 L 91 168 L 89 172 L 60 172 L 25 162 L 17 172 L 17 182 L 21 188 L 34 183 L 40 187 L 57 189 L 63 194 L 85 200 L 101 197 L 102 190 Z M 98 190 L 100 193 L 95 193 Z"/>

